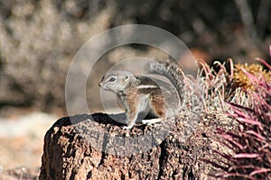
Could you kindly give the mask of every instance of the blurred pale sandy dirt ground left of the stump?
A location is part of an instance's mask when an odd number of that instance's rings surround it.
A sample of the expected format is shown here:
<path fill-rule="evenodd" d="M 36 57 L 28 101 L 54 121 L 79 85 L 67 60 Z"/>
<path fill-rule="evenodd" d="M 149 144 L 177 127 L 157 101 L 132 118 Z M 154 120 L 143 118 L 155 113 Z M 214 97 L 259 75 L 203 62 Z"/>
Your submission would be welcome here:
<path fill-rule="evenodd" d="M 56 114 L 17 112 L 0 118 L 0 179 L 34 178 L 42 164 L 43 137 Z"/>

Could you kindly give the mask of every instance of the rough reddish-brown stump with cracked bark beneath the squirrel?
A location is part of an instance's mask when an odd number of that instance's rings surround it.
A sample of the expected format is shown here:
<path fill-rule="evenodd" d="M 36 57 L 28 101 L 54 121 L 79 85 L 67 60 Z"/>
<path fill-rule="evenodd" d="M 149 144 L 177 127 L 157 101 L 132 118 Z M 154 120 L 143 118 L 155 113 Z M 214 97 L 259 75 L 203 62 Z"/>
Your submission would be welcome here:
<path fill-rule="evenodd" d="M 123 130 L 104 113 L 61 118 L 44 137 L 39 178 L 211 179 L 217 169 L 201 158 L 212 158 L 210 147 L 220 144 L 213 121 L 202 117 L 184 139 L 183 121 Z"/>

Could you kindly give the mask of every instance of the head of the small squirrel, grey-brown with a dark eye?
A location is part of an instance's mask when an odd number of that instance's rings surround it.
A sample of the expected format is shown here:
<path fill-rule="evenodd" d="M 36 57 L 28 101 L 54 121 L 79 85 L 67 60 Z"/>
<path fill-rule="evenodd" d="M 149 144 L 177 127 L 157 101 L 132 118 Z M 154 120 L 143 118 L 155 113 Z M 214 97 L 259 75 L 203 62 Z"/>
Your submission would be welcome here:
<path fill-rule="evenodd" d="M 103 76 L 98 86 L 106 91 L 118 93 L 124 91 L 126 86 L 132 82 L 135 82 L 135 76 L 132 73 L 119 70 L 108 72 Z"/>

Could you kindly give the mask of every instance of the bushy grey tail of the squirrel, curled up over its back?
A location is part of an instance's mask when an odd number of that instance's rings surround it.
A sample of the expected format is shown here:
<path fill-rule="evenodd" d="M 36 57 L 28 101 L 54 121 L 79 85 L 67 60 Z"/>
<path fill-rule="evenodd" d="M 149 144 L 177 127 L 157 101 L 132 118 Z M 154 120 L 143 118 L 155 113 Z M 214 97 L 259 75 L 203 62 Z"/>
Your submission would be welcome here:
<path fill-rule="evenodd" d="M 177 90 L 180 100 L 183 100 L 185 75 L 182 67 L 169 62 L 153 62 L 150 63 L 150 70 L 151 73 L 166 76 Z"/>

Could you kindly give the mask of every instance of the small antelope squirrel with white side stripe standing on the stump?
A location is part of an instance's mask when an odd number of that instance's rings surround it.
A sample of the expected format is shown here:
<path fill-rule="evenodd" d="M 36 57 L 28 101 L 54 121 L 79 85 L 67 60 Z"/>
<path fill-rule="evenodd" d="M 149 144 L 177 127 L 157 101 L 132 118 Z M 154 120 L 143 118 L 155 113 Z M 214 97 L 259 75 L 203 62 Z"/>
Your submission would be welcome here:
<path fill-rule="evenodd" d="M 161 121 L 177 109 L 173 103 L 176 99 L 182 102 L 185 77 L 182 68 L 168 62 L 155 62 L 150 64 L 150 69 L 151 73 L 166 76 L 174 88 L 158 78 L 135 76 L 123 70 L 108 72 L 98 84 L 102 89 L 117 94 L 117 103 L 126 111 L 124 129 L 133 128 L 138 120 L 144 123 Z M 143 120 L 146 114 L 156 119 Z"/>

